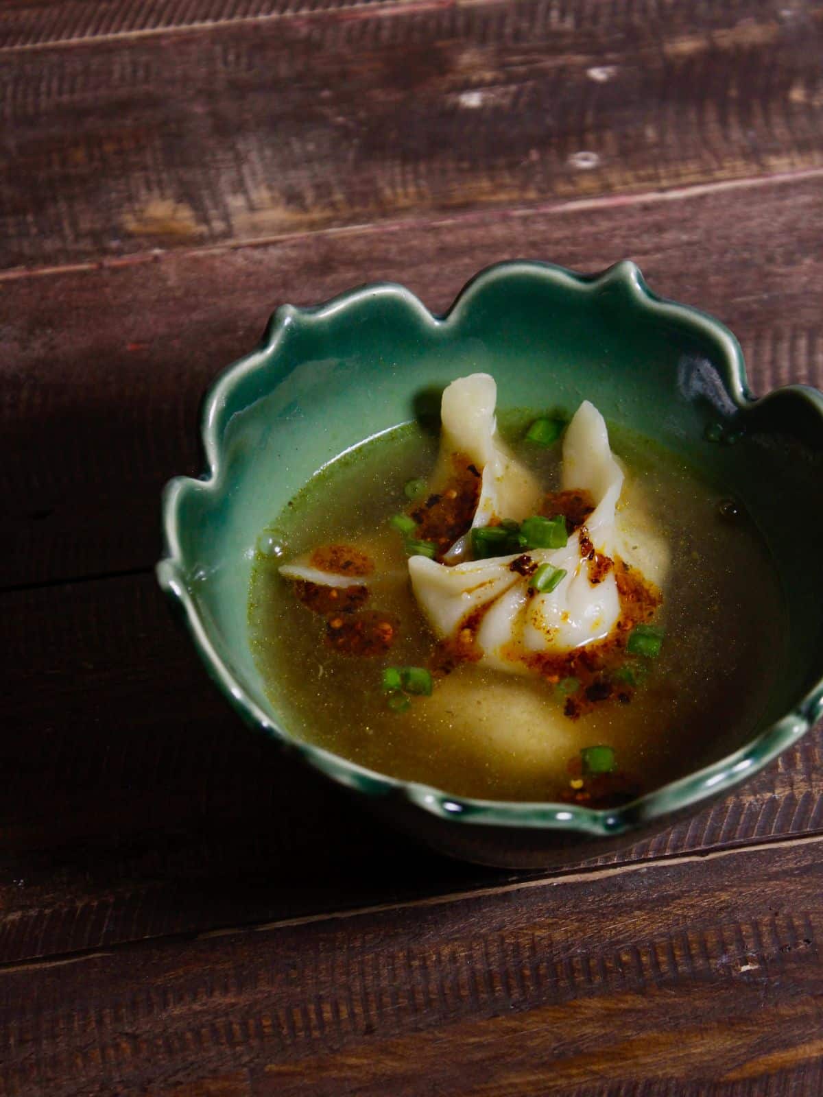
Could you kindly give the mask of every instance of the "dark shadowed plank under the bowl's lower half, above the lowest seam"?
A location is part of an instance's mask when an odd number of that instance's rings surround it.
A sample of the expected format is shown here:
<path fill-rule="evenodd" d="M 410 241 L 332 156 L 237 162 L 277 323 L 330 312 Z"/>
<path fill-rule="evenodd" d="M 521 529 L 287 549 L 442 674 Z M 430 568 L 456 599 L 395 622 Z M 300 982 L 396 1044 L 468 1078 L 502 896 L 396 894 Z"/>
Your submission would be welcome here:
<path fill-rule="evenodd" d="M 0 963 L 511 875 L 386 832 L 244 727 L 151 576 L 7 593 L 0 610 L 0 771 L 14 774 L 0 808 Z M 733 795 L 597 863 L 821 829 L 823 727 Z"/>

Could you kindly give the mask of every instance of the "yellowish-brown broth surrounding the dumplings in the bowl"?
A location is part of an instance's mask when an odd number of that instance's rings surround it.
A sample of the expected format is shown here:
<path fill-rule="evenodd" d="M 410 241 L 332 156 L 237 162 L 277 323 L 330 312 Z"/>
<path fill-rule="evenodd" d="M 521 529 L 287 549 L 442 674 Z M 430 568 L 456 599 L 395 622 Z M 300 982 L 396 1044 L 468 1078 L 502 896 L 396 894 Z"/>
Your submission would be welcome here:
<path fill-rule="evenodd" d="M 522 441 L 531 418 L 500 414 L 500 432 L 544 489 L 556 490 L 560 446 Z M 437 439 L 412 425 L 327 466 L 268 531 L 278 553 L 258 554 L 251 642 L 288 730 L 379 772 L 455 795 L 514 801 L 575 799 L 580 751 L 591 746 L 612 748 L 636 793 L 748 738 L 779 674 L 774 637 L 783 635 L 765 547 L 745 516 L 723 506 L 722 495 L 679 459 L 628 430 L 611 426 L 610 436 L 627 470 L 624 495 L 642 490 L 670 552 L 655 617 L 665 641 L 658 658 L 635 660 L 643 678 L 627 703 L 567 719 L 563 681 L 467 661 L 436 678 L 430 697 L 414 695 L 404 711 L 388 706 L 383 669 L 431 666 L 436 646 L 407 578 L 403 539 L 390 525 L 408 509 L 404 486 L 426 480 L 437 457 Z M 377 631 L 364 654 L 350 654 L 345 637 L 335 647 L 329 606 L 317 612 L 279 575 L 284 558 L 323 545 L 350 546 L 373 567 L 363 581 L 369 627 Z"/>

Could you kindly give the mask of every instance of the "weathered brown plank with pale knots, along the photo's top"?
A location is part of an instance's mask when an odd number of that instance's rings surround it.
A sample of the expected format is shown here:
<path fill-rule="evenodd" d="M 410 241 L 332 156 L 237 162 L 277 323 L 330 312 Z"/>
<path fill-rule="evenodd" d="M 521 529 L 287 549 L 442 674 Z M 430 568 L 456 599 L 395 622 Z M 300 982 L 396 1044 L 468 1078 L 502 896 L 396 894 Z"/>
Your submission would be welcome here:
<path fill-rule="evenodd" d="M 0 265 L 823 162 L 821 3 L 335 7 L 5 53 Z"/>

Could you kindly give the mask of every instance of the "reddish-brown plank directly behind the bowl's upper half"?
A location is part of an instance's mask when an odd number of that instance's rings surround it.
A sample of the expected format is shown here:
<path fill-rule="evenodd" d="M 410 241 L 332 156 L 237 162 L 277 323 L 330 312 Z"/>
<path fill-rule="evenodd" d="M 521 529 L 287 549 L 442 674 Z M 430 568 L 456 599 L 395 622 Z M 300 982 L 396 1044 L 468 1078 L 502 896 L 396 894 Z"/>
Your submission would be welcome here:
<path fill-rule="evenodd" d="M 212 377 L 278 304 L 367 280 L 403 281 L 442 310 L 499 259 L 598 270 L 630 256 L 655 291 L 731 325 L 757 391 L 821 385 L 821 222 L 823 172 L 0 281 L 0 587 L 151 564 L 164 482 L 200 471 Z"/>

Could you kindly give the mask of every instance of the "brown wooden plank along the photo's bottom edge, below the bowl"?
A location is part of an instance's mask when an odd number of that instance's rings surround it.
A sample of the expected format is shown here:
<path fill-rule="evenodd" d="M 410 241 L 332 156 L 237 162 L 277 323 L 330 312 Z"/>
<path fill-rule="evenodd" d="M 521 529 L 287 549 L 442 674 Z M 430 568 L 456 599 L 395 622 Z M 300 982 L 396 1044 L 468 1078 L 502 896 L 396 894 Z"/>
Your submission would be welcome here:
<path fill-rule="evenodd" d="M 812 1097 L 821 841 L 7 969 L 3 1093 Z"/>

